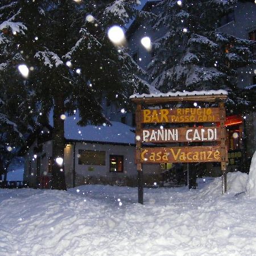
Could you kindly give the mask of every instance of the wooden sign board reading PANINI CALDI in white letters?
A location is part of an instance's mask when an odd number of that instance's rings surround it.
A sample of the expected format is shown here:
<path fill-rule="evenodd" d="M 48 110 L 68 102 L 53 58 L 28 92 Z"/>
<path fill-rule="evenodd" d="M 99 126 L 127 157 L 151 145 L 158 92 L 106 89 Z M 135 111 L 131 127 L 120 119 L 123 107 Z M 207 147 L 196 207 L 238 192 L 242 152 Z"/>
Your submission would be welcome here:
<path fill-rule="evenodd" d="M 220 127 L 179 127 L 142 129 L 137 133 L 142 142 L 212 142 L 220 141 Z"/>

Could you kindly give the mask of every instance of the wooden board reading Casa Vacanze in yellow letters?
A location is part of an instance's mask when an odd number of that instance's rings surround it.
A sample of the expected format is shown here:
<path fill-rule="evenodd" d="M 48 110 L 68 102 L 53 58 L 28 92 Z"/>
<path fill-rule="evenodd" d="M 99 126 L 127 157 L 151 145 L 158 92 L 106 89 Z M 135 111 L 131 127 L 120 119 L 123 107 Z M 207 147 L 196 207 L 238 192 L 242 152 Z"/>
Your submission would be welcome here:
<path fill-rule="evenodd" d="M 141 163 L 221 162 L 219 146 L 142 148 Z"/>

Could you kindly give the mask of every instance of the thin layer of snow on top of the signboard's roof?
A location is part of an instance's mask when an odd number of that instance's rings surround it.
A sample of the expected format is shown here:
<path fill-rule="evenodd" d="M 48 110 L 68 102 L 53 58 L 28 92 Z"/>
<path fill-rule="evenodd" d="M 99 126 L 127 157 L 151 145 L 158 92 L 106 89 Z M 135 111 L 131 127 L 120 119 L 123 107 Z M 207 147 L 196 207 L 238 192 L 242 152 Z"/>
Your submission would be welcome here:
<path fill-rule="evenodd" d="M 176 97 L 176 96 L 204 96 L 204 95 L 228 95 L 226 90 L 193 90 L 193 92 L 168 92 L 168 93 L 150 93 L 133 94 L 130 98 L 152 98 L 152 97 Z"/>

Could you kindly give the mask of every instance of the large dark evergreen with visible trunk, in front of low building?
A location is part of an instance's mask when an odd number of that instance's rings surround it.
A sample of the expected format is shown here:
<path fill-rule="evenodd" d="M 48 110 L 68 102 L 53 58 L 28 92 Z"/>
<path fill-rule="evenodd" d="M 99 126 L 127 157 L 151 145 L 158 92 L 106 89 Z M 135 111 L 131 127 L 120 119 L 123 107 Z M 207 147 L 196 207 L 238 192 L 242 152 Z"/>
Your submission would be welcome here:
<path fill-rule="evenodd" d="M 63 114 L 79 110 L 80 125 L 100 123 L 102 96 L 125 101 L 146 89 L 138 65 L 125 48 L 115 47 L 107 31 L 135 13 L 135 0 L 4 0 L 0 30 L 26 64 L 27 80 L 44 117 L 53 109 L 53 159 L 64 158 Z M 5 6 L 4 6 L 5 5 Z M 5 15 L 11 6 L 12 16 Z M 11 76 L 11 74 L 10 74 Z M 65 189 L 64 167 L 53 161 L 52 188 Z"/>

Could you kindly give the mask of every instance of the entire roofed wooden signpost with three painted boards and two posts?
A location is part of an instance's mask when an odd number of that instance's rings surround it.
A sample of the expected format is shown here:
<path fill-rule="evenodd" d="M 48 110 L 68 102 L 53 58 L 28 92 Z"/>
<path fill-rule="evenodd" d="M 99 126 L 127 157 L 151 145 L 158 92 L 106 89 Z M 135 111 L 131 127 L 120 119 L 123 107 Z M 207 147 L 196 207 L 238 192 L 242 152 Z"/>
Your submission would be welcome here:
<path fill-rule="evenodd" d="M 156 95 L 131 96 L 137 104 L 136 121 L 136 164 L 138 171 L 138 202 L 143 204 L 143 163 L 196 163 L 220 162 L 222 170 L 222 193 L 226 192 L 226 149 L 225 106 L 228 93 L 224 90 L 209 92 L 177 92 Z M 161 105 L 184 102 L 212 102 L 218 108 L 150 108 L 143 105 Z M 174 123 L 177 127 L 144 128 L 151 123 Z M 191 127 L 180 127 L 190 123 Z M 196 124 L 200 123 L 200 126 Z M 215 125 L 214 125 L 215 123 Z M 220 123 L 217 126 L 217 123 Z M 210 125 L 209 125 L 210 124 Z M 179 126 L 178 126 L 179 125 Z M 167 143 L 200 144 L 200 146 L 166 146 Z M 208 146 L 203 146 L 208 142 Z M 165 144 L 164 147 L 143 147 L 143 143 Z M 211 146 L 209 146 L 209 144 Z"/>

